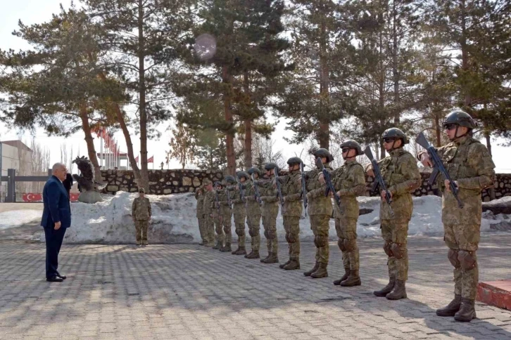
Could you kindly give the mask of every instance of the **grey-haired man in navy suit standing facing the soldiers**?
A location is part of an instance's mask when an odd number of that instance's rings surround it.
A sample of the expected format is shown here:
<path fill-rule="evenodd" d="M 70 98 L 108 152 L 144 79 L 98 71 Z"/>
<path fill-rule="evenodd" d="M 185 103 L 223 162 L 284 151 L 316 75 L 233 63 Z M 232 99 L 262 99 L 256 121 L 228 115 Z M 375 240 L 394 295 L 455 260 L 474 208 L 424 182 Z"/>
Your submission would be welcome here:
<path fill-rule="evenodd" d="M 61 251 L 65 230 L 71 225 L 71 207 L 68 192 L 63 181 L 68 170 L 65 165 L 56 163 L 51 178 L 43 189 L 44 210 L 41 225 L 46 238 L 46 281 L 62 282 L 65 275 L 58 273 L 58 253 Z"/>

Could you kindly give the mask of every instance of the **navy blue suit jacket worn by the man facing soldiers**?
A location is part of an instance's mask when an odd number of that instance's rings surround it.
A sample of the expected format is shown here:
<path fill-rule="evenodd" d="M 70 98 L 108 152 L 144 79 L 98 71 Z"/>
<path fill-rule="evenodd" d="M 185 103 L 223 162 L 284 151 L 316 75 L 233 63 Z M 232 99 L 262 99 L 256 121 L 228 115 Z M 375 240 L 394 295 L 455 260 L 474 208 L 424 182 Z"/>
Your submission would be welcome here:
<path fill-rule="evenodd" d="M 65 191 L 61 180 L 51 176 L 43 189 L 43 216 L 41 225 L 52 228 L 56 222 L 61 222 L 61 228 L 71 226 L 71 207 L 68 192 Z"/>

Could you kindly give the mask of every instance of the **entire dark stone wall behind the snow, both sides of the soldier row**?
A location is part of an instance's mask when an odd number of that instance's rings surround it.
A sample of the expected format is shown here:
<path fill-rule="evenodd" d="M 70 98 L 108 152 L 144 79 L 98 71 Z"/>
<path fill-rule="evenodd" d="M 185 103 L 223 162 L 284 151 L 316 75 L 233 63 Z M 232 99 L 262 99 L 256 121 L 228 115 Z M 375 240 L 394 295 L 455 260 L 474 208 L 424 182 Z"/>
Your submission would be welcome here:
<path fill-rule="evenodd" d="M 280 171 L 281 176 L 287 171 Z M 115 194 L 118 191 L 137 192 L 137 185 L 134 183 L 133 171 L 103 170 L 103 181 L 108 183 L 103 190 L 105 193 Z M 422 172 L 422 185 L 415 190 L 414 196 L 439 195 L 436 184 L 429 187 L 427 181 L 431 173 Z M 217 181 L 223 178 L 221 171 L 211 170 L 149 170 L 149 194 L 168 195 L 182 192 L 194 192 L 200 187 L 204 178 Z M 367 192 L 372 186 L 372 178 L 367 177 Z M 497 174 L 497 181 L 494 185 L 495 197 L 511 196 L 511 174 Z M 490 199 L 489 190 L 484 190 L 483 200 Z M 371 194 L 374 196 L 374 194 Z"/>

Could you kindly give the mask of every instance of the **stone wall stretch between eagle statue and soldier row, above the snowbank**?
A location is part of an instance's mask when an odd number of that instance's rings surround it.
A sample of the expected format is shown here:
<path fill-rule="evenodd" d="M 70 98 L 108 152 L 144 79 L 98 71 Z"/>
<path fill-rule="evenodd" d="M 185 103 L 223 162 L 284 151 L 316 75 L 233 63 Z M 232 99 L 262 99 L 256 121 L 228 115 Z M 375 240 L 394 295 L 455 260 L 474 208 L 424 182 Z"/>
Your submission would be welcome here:
<path fill-rule="evenodd" d="M 115 195 L 118 191 L 137 192 L 133 171 L 102 170 L 103 182 L 108 183 L 103 193 Z M 218 181 L 223 178 L 221 171 L 211 170 L 149 170 L 149 195 L 169 195 L 194 192 L 205 178 Z"/>

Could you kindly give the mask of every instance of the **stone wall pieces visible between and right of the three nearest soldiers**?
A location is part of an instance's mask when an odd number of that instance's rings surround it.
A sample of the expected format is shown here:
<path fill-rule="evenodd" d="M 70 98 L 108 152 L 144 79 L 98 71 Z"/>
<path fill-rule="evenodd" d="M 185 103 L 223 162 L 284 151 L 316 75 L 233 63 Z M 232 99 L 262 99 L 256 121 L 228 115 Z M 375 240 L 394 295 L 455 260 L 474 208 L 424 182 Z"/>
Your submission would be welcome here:
<path fill-rule="evenodd" d="M 425 195 L 440 195 L 439 188 L 436 185 L 432 185 L 431 187 L 428 185 L 429 176 L 431 176 L 430 172 L 422 172 L 422 185 L 420 188 L 413 192 L 414 196 L 425 196 Z M 367 192 L 370 192 L 370 188 L 373 185 L 373 178 L 366 176 L 367 182 Z M 495 190 L 495 198 L 498 199 L 500 197 L 511 196 L 511 174 L 497 174 L 497 181 L 493 186 Z M 491 200 L 490 190 L 486 189 L 482 192 L 482 197 L 484 202 L 488 202 Z M 376 196 L 374 193 L 370 192 L 370 196 Z"/>

